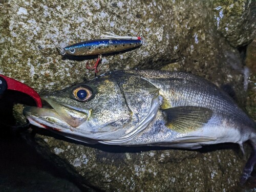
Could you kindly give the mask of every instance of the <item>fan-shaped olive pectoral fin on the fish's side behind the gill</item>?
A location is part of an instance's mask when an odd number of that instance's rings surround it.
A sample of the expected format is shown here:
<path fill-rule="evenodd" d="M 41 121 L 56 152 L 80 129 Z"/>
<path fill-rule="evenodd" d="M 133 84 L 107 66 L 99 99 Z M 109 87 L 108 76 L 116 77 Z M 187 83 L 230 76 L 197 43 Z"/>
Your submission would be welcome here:
<path fill-rule="evenodd" d="M 212 111 L 201 106 L 176 106 L 164 110 L 166 126 L 180 133 L 196 131 L 212 116 Z"/>

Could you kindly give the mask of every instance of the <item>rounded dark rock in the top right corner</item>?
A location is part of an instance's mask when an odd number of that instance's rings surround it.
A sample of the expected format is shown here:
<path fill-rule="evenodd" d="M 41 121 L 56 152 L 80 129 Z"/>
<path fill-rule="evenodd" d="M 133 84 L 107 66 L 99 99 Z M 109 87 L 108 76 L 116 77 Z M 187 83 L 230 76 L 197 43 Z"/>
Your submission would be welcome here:
<path fill-rule="evenodd" d="M 215 0 L 216 26 L 234 47 L 248 45 L 256 34 L 256 1 Z"/>

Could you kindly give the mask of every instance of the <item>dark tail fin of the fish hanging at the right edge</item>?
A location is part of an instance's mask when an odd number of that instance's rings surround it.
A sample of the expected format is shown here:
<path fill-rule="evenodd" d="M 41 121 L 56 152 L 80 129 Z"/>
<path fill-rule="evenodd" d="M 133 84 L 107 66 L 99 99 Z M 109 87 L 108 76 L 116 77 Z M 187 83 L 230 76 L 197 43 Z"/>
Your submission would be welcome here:
<path fill-rule="evenodd" d="M 253 167 L 256 163 L 256 136 L 255 134 L 253 134 L 254 136 L 251 137 L 250 139 L 250 143 L 253 147 L 252 153 L 247 161 L 247 163 L 245 164 L 244 170 L 243 170 L 243 174 L 241 176 L 240 179 L 240 184 L 243 185 L 251 176 L 251 172 L 253 170 Z"/>

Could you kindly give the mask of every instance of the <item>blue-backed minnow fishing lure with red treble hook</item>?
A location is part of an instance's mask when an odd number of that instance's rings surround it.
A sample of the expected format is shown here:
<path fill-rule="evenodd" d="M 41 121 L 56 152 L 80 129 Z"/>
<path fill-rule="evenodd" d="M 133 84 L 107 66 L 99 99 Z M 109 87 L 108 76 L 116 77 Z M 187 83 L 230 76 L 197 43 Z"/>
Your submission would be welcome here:
<path fill-rule="evenodd" d="M 71 56 L 99 55 L 93 67 L 89 67 L 87 62 L 87 69 L 95 69 L 95 73 L 97 73 L 101 54 L 120 52 L 143 44 L 141 37 L 119 36 L 113 33 L 106 34 L 108 35 L 101 35 L 101 39 L 82 41 L 65 48 L 59 48 L 60 54 Z"/>

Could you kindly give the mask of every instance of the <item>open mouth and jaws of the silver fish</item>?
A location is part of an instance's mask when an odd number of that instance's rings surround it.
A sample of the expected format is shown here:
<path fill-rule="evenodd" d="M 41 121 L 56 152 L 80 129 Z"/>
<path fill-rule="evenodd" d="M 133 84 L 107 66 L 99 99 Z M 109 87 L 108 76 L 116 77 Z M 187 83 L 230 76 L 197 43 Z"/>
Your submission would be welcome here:
<path fill-rule="evenodd" d="M 44 108 L 27 106 L 23 111 L 23 114 L 30 123 L 39 127 L 56 127 L 56 129 L 57 127 L 75 128 L 87 121 L 90 115 L 88 110 L 81 111 L 68 104 L 58 102 L 53 98 L 42 97 L 42 100 L 47 103 L 44 105 Z"/>

